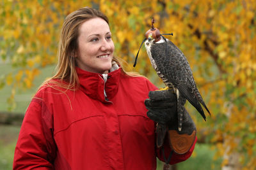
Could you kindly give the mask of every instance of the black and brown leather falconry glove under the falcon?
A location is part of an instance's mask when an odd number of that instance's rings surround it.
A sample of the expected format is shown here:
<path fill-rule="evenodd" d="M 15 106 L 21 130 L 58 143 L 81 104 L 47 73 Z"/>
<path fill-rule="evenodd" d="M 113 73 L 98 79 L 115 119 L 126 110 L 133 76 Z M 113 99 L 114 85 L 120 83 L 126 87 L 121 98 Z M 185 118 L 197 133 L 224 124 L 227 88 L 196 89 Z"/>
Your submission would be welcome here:
<path fill-rule="evenodd" d="M 179 154 L 188 152 L 195 141 L 196 127 L 184 108 L 182 130 L 178 130 L 177 97 L 173 89 L 150 91 L 148 97 L 145 106 L 148 118 L 157 122 L 157 147 L 163 145 L 168 131 L 172 150 Z"/>

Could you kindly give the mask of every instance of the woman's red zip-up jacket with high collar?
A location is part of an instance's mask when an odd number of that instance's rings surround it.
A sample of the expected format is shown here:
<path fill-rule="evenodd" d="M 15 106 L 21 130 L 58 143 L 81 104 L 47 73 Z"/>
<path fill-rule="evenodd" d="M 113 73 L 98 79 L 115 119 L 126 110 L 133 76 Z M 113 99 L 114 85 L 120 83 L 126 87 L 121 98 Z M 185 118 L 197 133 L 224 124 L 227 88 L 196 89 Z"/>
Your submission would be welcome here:
<path fill-rule="evenodd" d="M 101 74 L 77 68 L 81 86 L 45 85 L 33 97 L 20 129 L 13 169 L 156 169 L 155 125 L 144 101 L 157 88 L 120 69 Z M 104 88 L 108 100 L 104 97 Z M 194 144 L 195 146 L 195 144 Z M 171 164 L 190 157 L 173 153 Z M 166 157 L 170 147 L 166 143 Z"/>

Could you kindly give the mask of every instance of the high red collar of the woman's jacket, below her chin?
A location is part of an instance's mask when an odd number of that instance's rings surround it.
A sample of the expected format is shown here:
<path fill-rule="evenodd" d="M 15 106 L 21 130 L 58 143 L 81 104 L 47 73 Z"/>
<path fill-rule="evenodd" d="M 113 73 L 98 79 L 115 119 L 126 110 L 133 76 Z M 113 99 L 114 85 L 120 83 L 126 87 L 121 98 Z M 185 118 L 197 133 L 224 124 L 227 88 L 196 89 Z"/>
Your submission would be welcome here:
<path fill-rule="evenodd" d="M 121 68 L 108 73 L 106 81 L 104 81 L 102 74 L 84 71 L 79 67 L 76 67 L 76 71 L 80 83 L 79 89 L 92 99 L 102 103 L 112 103 L 111 99 L 118 90 Z M 106 92 L 106 97 L 104 96 L 104 91 Z"/>

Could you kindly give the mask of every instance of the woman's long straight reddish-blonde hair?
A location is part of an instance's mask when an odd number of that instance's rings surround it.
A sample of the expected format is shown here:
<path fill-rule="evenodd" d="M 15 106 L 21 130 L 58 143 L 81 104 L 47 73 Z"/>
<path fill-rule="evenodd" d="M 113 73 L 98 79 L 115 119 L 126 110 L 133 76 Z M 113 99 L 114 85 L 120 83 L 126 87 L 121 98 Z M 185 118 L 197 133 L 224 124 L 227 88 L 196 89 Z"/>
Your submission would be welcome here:
<path fill-rule="evenodd" d="M 76 73 L 76 60 L 74 57 L 78 50 L 77 38 L 79 36 L 79 26 L 86 20 L 98 17 L 109 24 L 106 15 L 98 10 L 88 7 L 80 8 L 79 10 L 70 13 L 65 18 L 58 45 L 56 73 L 54 76 L 44 81 L 42 85 L 45 85 L 45 83 L 49 85 L 49 82 L 51 82 L 69 90 L 75 90 L 77 85 L 79 86 L 79 80 Z M 121 67 L 122 73 L 128 76 L 140 76 L 138 73 L 124 71 L 121 62 L 117 57 L 113 57 L 113 60 Z M 60 81 L 51 81 L 55 79 Z"/>

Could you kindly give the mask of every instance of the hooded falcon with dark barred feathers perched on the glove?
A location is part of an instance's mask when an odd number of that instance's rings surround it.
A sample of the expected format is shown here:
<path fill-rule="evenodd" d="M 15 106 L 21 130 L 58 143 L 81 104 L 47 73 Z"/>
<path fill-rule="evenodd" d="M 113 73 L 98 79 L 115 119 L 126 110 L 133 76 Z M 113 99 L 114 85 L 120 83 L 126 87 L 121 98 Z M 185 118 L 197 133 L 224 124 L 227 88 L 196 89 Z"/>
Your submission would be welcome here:
<path fill-rule="evenodd" d="M 145 42 L 148 57 L 156 70 L 157 75 L 163 80 L 166 87 L 173 88 L 177 96 L 178 129 L 181 131 L 182 117 L 185 110 L 184 104 L 187 100 L 196 108 L 205 121 L 206 118 L 202 106 L 204 106 L 209 115 L 211 115 L 211 113 L 196 87 L 191 67 L 189 66 L 184 53 L 182 53 L 172 41 L 164 38 L 163 35 L 173 34 L 160 34 L 160 31 L 154 27 L 153 18 L 152 28 L 146 32 L 146 38 L 143 42 Z M 142 44 L 143 43 L 141 43 L 141 45 Z M 138 53 L 139 52 L 140 49 Z M 136 55 L 136 60 L 138 58 L 138 53 Z M 136 66 L 136 60 L 134 62 L 134 67 Z"/>

